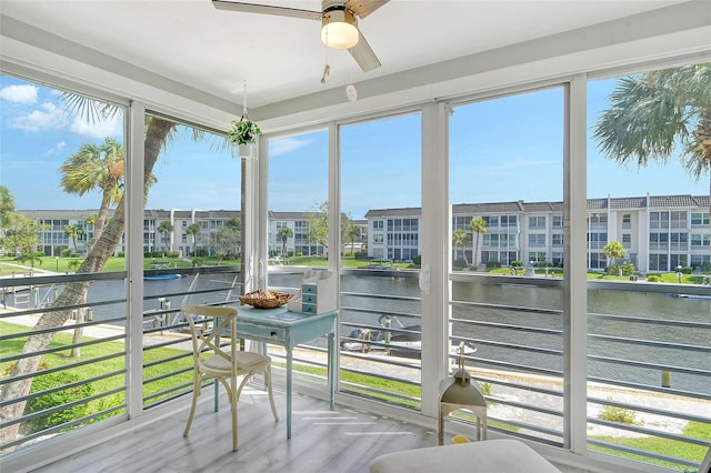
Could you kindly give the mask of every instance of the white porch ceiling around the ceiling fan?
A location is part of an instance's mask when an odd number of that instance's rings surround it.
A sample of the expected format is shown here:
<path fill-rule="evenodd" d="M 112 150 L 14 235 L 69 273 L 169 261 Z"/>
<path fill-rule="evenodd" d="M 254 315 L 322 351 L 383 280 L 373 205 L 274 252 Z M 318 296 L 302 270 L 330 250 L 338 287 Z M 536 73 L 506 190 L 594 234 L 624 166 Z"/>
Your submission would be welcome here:
<path fill-rule="evenodd" d="M 321 9 L 320 0 L 251 1 Z M 682 2 L 391 0 L 360 22 L 382 62 L 371 72 L 362 72 L 347 51 L 327 52 L 317 21 L 218 10 L 210 0 L 1 0 L 0 13 L 3 42 L 10 41 L 6 46 L 34 43 L 94 64 L 107 61 L 107 54 L 123 61 L 121 68 L 114 66 L 117 73 L 233 104 L 242 102 L 247 81 L 252 109 L 350 82 L 387 83 L 392 78 L 389 87 L 397 89 L 397 81 L 407 77 L 403 71 L 675 3 Z M 327 60 L 331 73 L 322 84 Z"/>

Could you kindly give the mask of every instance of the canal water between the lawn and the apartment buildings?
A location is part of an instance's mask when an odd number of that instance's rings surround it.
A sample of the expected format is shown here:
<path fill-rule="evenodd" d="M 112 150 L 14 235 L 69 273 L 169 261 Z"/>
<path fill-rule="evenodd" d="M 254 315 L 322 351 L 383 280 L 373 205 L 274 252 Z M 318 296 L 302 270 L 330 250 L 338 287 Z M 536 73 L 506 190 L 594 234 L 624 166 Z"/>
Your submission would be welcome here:
<path fill-rule="evenodd" d="M 270 286 L 297 288 L 300 274 L 270 274 Z M 533 370 L 562 371 L 563 293 L 559 286 L 501 283 L 453 283 L 452 335 L 477 348 L 468 364 L 497 368 L 498 363 L 530 366 Z M 189 298 L 191 303 L 228 299 L 232 278 L 227 274 L 201 275 L 144 282 L 144 311 L 177 309 L 183 295 L 214 289 L 214 293 Z M 673 372 L 671 388 L 711 396 L 711 379 L 692 370 L 711 370 L 711 300 L 677 298 L 662 292 L 634 290 L 590 290 L 588 292 L 588 375 L 599 380 L 660 386 L 662 370 Z M 341 279 L 342 334 L 356 326 L 381 326 L 390 315 L 393 326 L 421 323 L 420 290 L 417 278 L 348 274 Z M 88 294 L 96 302 L 94 320 L 119 318 L 122 302 L 100 305 L 102 301 L 121 299 L 123 281 L 97 281 Z M 156 299 L 164 294 L 174 294 Z M 373 298 L 395 295 L 401 299 Z M 44 294 L 40 294 L 44 298 Z M 232 293 L 230 299 L 234 299 Z M 8 301 L 12 304 L 12 300 Z M 533 310 L 531 310 L 533 309 Z M 583 314 L 584 315 L 584 314 Z M 611 316 L 614 315 L 614 316 Z M 574 316 L 581 316 L 575 314 Z M 641 320 L 647 319 L 647 321 Z M 650 323 L 657 321 L 659 323 Z M 680 322 L 670 323 L 670 322 Z M 705 326 L 684 326 L 702 323 Z M 634 343 L 630 343 L 631 339 Z M 681 344 L 683 348 L 672 346 Z M 645 366 L 652 364 L 654 366 Z M 682 368 L 683 370 L 674 370 Z M 681 372 L 679 372 L 681 371 Z"/>

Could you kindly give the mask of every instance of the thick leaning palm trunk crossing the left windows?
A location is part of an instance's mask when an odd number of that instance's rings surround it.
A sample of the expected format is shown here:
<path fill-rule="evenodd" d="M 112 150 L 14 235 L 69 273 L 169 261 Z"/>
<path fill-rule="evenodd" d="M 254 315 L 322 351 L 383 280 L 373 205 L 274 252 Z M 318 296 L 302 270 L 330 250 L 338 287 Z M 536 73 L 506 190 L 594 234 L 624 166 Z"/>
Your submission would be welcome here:
<path fill-rule="evenodd" d="M 166 139 L 173 124 L 169 121 L 153 118 L 150 121 L 146 135 L 146 157 L 143 168 L 143 182 L 146 188 L 143 193 L 148 193 L 148 183 L 150 183 L 150 174 L 153 170 L 153 165 L 158 160 L 160 151 L 166 143 Z M 78 272 L 81 273 L 94 273 L 100 272 L 108 259 L 113 254 L 113 250 L 118 246 L 123 235 L 126 228 L 126 197 L 122 197 L 117 205 L 113 217 L 108 221 L 106 228 L 101 232 L 101 235 L 97 239 L 96 244 L 87 255 Z M 67 306 L 81 304 L 87 300 L 87 293 L 89 292 L 90 281 L 71 282 L 67 284 L 64 290 L 59 294 L 57 300 L 52 303 L 52 306 Z M 64 322 L 71 316 L 71 310 L 62 310 L 57 312 L 43 313 L 33 331 L 40 332 L 30 335 L 22 348 L 22 353 L 37 353 L 44 350 L 54 339 L 56 332 L 46 332 L 44 330 L 51 330 L 58 326 L 62 326 Z M 40 355 L 28 356 L 14 364 L 9 378 L 22 376 L 26 374 L 37 372 L 37 368 L 40 364 Z M 0 391 L 0 403 L 3 407 L 0 409 L 0 423 L 11 422 L 22 415 L 24 411 L 24 404 L 27 401 L 17 401 L 23 399 L 30 392 L 32 385 L 32 378 L 20 379 L 19 381 L 10 382 Z M 6 405 L 7 403 L 7 405 Z M 19 432 L 20 423 L 14 423 L 0 430 L 0 443 L 7 443 L 13 441 Z M 13 449 L 9 449 L 10 451 Z M 3 452 L 7 453 L 7 452 Z"/>

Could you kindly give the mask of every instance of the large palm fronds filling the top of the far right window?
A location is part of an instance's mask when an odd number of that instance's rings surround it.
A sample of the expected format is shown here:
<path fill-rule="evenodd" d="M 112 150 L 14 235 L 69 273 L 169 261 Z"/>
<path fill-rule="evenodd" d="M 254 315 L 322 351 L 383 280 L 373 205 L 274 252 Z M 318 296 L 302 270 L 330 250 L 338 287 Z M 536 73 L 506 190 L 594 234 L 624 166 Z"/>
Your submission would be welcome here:
<path fill-rule="evenodd" d="M 637 162 L 638 169 L 650 161 L 665 164 L 678 150 L 695 182 L 710 178 L 711 201 L 711 63 L 620 79 L 593 137 L 608 158 L 620 165 Z"/>

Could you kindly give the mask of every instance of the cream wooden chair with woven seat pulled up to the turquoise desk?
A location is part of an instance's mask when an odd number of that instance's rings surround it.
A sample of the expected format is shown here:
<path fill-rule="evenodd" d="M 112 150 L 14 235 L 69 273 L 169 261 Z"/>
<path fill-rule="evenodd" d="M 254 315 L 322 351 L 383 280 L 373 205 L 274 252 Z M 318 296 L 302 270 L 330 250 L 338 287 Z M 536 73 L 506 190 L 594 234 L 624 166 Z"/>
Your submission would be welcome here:
<path fill-rule="evenodd" d="M 190 407 L 190 416 L 188 417 L 183 436 L 188 436 L 190 432 L 203 381 L 216 379 L 227 390 L 230 401 L 232 413 L 232 450 L 237 451 L 237 404 L 242 388 L 244 388 L 244 384 L 247 384 L 252 374 L 264 373 L 271 411 L 274 414 L 274 420 L 279 421 L 272 392 L 271 359 L 264 354 L 238 350 L 237 309 L 183 304 L 181 310 L 190 325 L 194 362 L 192 406 Z M 207 325 L 204 322 L 200 323 L 203 318 L 214 320 L 211 330 L 206 329 Z M 220 346 L 221 343 L 217 343 L 218 338 L 220 338 L 220 342 L 229 339 L 229 346 Z M 243 376 L 239 385 L 237 384 L 238 376 Z"/>

